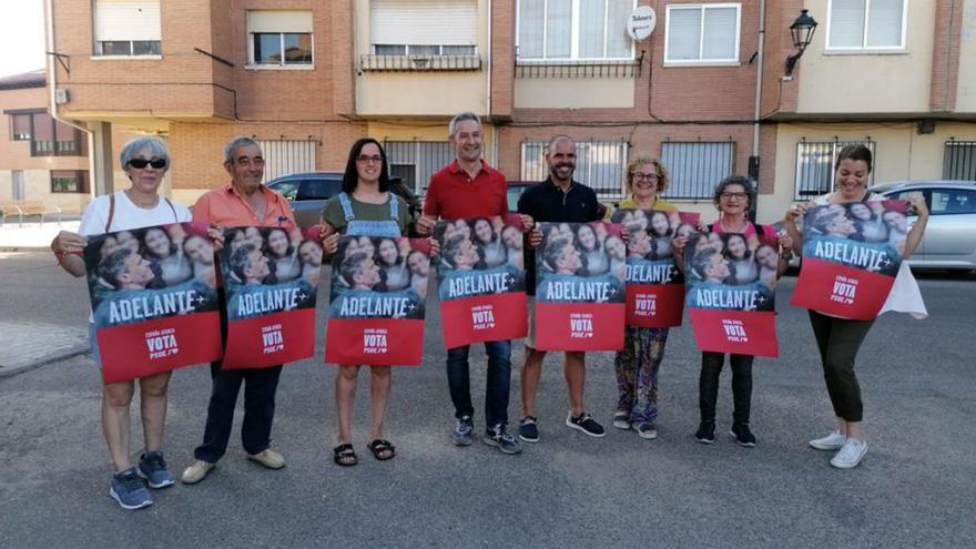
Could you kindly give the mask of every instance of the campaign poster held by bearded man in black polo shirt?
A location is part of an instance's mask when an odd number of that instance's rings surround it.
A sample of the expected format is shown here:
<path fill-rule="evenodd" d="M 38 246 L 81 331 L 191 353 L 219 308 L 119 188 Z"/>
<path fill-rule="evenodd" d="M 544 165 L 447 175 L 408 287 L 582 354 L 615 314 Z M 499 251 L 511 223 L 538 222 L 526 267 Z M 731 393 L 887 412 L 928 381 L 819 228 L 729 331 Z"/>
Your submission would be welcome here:
<path fill-rule="evenodd" d="M 536 248 L 536 348 L 619 350 L 623 347 L 627 258 L 610 248 L 620 225 L 539 223 Z"/>

